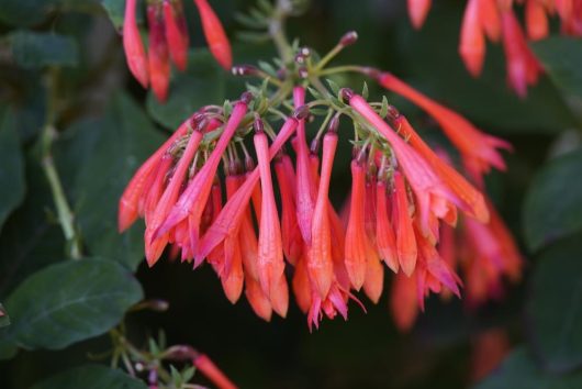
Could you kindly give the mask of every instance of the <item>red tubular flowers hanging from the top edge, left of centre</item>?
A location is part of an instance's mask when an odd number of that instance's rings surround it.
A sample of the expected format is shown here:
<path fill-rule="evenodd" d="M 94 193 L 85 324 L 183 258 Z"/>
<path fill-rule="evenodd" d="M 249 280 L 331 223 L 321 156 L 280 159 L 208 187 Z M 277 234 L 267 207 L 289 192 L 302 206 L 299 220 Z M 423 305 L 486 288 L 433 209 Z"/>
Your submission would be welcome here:
<path fill-rule="evenodd" d="M 206 0 L 194 1 L 211 53 L 225 69 L 232 66 L 231 44 Z M 170 60 L 183 71 L 188 65 L 189 35 L 181 0 L 148 0 L 148 49 L 144 47 L 136 20 L 137 0 L 125 3 L 123 47 L 127 66 L 144 88 L 152 85 L 159 101 L 166 101 Z"/>

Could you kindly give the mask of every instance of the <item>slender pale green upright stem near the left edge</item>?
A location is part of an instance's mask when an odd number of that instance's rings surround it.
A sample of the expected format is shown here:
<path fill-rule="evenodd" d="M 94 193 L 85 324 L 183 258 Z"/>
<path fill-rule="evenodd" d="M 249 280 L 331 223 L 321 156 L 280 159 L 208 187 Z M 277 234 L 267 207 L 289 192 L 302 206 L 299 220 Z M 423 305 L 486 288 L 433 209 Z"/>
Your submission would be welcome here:
<path fill-rule="evenodd" d="M 54 123 L 57 116 L 57 80 L 58 70 L 51 69 L 47 81 L 48 102 L 46 123 L 41 135 L 42 166 L 48 180 L 48 185 L 51 186 L 53 200 L 57 210 L 58 222 L 63 230 L 63 234 L 65 235 L 65 240 L 67 241 L 68 255 L 72 259 L 80 259 L 81 243 L 80 237 L 75 229 L 75 216 L 67 202 L 67 197 L 65 196 L 65 190 L 63 189 L 63 184 L 60 182 L 60 177 L 58 176 L 55 163 L 53 160 L 53 155 L 51 153 L 53 141 L 56 137 L 56 130 Z"/>

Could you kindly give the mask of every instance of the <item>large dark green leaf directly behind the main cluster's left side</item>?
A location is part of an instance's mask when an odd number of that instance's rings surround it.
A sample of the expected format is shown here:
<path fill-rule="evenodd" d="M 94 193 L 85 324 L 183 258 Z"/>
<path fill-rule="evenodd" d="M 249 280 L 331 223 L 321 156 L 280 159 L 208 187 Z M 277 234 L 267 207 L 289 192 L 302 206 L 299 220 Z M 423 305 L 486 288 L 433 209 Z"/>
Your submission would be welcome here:
<path fill-rule="evenodd" d="M 135 170 L 164 137 L 125 95 L 113 97 L 99 130 L 75 185 L 77 221 L 92 255 L 114 258 L 135 269 L 144 256 L 143 225 L 136 223 L 120 234 L 117 202 Z"/>

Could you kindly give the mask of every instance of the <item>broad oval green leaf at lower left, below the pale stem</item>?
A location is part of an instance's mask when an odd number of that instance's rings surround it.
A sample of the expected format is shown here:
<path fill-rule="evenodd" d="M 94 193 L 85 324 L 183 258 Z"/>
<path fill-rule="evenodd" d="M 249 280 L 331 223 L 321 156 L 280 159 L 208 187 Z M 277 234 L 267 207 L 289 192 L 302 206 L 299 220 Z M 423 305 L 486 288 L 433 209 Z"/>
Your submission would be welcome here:
<path fill-rule="evenodd" d="M 97 258 L 51 265 L 22 282 L 5 301 L 18 346 L 60 349 L 105 333 L 143 297 L 120 264 Z"/>

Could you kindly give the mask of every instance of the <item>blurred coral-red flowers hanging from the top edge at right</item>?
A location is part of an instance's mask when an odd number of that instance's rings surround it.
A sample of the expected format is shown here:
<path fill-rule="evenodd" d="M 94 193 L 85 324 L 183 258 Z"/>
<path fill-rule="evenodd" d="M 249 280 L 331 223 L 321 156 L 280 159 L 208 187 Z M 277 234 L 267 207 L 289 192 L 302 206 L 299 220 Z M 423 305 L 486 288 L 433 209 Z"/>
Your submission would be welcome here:
<path fill-rule="evenodd" d="M 525 7 L 525 31 L 514 12 L 512 0 L 468 0 L 461 24 L 459 54 L 469 73 L 478 77 L 485 59 L 485 37 L 502 42 L 506 57 L 507 82 L 525 97 L 527 86 L 535 85 L 541 65 L 527 45 L 527 40 L 548 36 L 549 16 L 561 21 L 561 32 L 582 36 L 581 0 L 521 0 Z M 412 23 L 419 29 L 428 14 L 432 0 L 408 0 Z"/>

